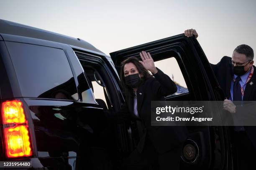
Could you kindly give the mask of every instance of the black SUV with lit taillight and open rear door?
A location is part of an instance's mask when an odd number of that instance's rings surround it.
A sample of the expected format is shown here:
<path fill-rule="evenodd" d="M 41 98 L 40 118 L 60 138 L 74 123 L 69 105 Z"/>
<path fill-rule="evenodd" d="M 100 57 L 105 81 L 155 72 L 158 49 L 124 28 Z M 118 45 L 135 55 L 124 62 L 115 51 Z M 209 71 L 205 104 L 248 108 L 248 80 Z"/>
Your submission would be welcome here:
<path fill-rule="evenodd" d="M 0 160 L 31 161 L 35 169 L 118 169 L 136 148 L 136 128 L 111 122 L 103 110 L 120 110 L 120 63 L 142 50 L 164 62 L 161 69 L 177 62 L 187 91 L 166 100 L 224 100 L 194 37 L 180 34 L 110 57 L 79 38 L 0 20 Z M 233 168 L 229 128 L 188 130 L 181 169 Z"/>

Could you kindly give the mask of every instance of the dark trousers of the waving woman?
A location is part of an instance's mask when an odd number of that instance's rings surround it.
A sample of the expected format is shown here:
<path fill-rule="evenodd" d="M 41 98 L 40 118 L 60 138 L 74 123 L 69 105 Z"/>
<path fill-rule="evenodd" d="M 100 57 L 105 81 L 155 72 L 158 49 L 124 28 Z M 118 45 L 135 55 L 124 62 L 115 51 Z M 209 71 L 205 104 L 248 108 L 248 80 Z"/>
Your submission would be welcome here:
<path fill-rule="evenodd" d="M 134 150 L 124 161 L 122 170 L 179 170 L 183 143 L 173 150 L 159 154 L 148 135 L 142 153 Z"/>

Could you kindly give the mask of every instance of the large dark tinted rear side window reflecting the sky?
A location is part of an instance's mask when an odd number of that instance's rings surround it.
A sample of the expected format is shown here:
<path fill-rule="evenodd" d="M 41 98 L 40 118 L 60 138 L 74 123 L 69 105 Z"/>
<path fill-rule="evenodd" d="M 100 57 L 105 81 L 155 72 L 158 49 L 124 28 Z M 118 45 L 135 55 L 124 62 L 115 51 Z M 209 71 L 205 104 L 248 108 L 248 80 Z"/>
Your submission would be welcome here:
<path fill-rule="evenodd" d="M 64 51 L 7 42 L 23 97 L 78 100 L 72 70 Z"/>

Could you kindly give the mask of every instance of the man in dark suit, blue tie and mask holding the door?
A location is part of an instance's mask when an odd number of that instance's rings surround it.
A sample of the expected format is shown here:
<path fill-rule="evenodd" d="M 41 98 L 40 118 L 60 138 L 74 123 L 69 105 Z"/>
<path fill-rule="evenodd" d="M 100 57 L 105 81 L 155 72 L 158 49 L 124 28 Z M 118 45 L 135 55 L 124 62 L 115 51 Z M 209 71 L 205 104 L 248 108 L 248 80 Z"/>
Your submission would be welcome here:
<path fill-rule="evenodd" d="M 195 35 L 196 30 L 185 31 L 187 37 Z M 211 64 L 212 70 L 225 92 L 224 110 L 230 114 L 243 114 L 243 101 L 256 100 L 256 67 L 253 65 L 253 49 L 248 45 L 238 45 L 231 57 L 224 56 L 216 65 Z M 244 109 L 241 109 L 244 110 Z M 251 112 L 255 114 L 255 112 Z M 256 127 L 234 126 L 234 143 L 238 158 L 239 169 L 251 169 L 256 160 Z"/>

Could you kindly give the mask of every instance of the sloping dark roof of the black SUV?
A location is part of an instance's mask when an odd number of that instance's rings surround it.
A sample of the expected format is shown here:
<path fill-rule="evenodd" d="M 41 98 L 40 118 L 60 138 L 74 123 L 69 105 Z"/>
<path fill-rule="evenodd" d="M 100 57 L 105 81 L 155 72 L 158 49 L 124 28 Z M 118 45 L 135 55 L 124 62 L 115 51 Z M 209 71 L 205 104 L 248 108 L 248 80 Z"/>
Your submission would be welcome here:
<path fill-rule="evenodd" d="M 46 31 L 39 28 L 34 28 L 31 26 L 14 23 L 14 22 L 2 20 L 2 19 L 0 19 L 0 34 L 1 33 L 60 42 L 60 43 L 72 45 L 75 47 L 81 47 L 87 50 L 103 53 L 102 51 L 98 50 L 93 45 L 91 45 L 89 42 L 86 42 L 79 38 L 69 37 L 69 36 L 61 35 L 55 32 Z"/>

